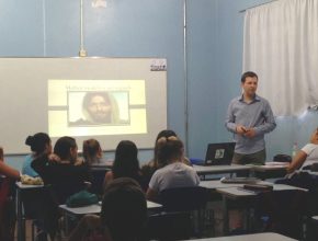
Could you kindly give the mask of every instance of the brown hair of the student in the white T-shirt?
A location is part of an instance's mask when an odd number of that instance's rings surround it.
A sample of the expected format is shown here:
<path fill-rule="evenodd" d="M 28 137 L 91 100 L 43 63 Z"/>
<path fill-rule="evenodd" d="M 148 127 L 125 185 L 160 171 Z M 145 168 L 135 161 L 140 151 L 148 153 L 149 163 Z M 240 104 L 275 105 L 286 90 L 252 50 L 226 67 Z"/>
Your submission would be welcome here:
<path fill-rule="evenodd" d="M 181 158 L 183 153 L 183 144 L 177 137 L 161 137 L 157 141 L 158 159 L 166 164 L 172 159 Z"/>

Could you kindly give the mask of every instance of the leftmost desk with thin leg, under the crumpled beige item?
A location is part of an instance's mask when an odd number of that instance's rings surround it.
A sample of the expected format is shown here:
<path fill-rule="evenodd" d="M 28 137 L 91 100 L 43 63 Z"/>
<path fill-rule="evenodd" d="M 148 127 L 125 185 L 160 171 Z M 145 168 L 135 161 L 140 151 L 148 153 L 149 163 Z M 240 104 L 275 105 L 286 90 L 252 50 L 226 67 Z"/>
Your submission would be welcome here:
<path fill-rule="evenodd" d="M 22 192 L 27 190 L 43 188 L 43 185 L 26 185 L 16 182 L 16 226 L 18 226 L 18 241 L 25 241 L 25 220 L 23 217 Z"/>

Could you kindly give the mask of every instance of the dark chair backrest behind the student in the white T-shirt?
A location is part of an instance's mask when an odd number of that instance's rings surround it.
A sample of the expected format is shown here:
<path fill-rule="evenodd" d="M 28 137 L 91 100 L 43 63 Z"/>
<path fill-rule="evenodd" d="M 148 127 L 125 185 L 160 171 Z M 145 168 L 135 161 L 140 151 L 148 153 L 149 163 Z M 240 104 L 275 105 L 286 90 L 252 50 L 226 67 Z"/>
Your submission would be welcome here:
<path fill-rule="evenodd" d="M 202 186 L 177 187 L 161 191 L 159 198 L 167 211 L 197 210 L 205 207 L 208 192 Z"/>

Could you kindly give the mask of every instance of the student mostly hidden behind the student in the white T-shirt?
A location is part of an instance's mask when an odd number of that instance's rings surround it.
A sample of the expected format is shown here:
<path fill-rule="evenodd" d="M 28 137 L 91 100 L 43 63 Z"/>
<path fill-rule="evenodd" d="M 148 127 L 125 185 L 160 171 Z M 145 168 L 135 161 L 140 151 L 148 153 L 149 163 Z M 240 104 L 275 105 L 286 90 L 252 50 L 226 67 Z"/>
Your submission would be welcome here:
<path fill-rule="evenodd" d="M 147 164 L 141 167 L 141 173 L 145 176 L 146 183 L 150 182 L 151 176 L 158 169 L 163 168 L 167 164 L 164 160 L 160 160 L 158 157 L 158 140 L 161 137 L 168 138 L 168 137 L 178 137 L 178 136 L 171 129 L 163 129 L 157 135 L 155 148 L 154 148 L 154 158 Z M 191 162 L 186 157 L 183 158 L 182 162 L 184 164 L 191 165 Z"/>

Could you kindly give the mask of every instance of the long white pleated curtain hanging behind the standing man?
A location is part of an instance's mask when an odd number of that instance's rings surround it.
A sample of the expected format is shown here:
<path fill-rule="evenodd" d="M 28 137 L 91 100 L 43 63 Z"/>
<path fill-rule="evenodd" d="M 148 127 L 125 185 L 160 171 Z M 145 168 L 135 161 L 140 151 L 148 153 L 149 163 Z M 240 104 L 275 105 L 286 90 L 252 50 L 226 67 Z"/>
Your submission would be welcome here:
<path fill-rule="evenodd" d="M 279 0 L 246 11 L 243 71 L 276 116 L 318 104 L 318 0 Z"/>

